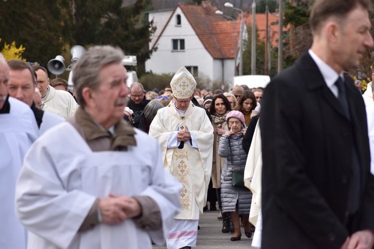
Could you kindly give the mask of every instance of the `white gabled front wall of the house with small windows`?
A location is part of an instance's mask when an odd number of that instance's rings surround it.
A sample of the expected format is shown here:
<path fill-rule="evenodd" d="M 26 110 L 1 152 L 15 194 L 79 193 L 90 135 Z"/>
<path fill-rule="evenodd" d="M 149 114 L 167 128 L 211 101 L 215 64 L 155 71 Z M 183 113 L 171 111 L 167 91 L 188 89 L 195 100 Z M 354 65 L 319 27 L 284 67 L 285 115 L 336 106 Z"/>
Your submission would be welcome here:
<path fill-rule="evenodd" d="M 177 14 L 181 15 L 181 26 L 176 26 Z M 172 39 L 185 39 L 185 50 L 172 51 Z M 146 71 L 174 74 L 182 66 L 197 66 L 199 74 L 213 79 L 213 58 L 205 50 L 180 7 L 174 12 L 156 46 L 158 50 L 146 61 Z"/>

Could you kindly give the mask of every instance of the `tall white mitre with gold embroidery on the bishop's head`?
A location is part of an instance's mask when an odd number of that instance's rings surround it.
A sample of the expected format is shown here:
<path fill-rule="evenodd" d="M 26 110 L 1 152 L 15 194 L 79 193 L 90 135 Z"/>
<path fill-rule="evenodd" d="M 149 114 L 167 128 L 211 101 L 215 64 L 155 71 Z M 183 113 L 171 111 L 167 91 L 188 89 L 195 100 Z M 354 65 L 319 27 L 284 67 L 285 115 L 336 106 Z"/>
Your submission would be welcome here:
<path fill-rule="evenodd" d="M 173 95 L 179 99 L 188 99 L 196 88 L 196 81 L 185 67 L 181 67 L 174 75 L 170 86 Z"/>

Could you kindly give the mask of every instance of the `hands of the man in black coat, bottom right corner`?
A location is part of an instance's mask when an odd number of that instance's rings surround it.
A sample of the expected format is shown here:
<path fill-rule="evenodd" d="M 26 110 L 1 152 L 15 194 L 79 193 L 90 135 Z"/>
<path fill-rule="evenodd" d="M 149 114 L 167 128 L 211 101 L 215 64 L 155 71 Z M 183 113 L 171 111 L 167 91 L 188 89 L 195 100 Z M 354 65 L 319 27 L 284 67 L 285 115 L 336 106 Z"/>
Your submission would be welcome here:
<path fill-rule="evenodd" d="M 341 249 L 372 249 L 374 244 L 374 233 L 363 230 L 348 237 Z"/>

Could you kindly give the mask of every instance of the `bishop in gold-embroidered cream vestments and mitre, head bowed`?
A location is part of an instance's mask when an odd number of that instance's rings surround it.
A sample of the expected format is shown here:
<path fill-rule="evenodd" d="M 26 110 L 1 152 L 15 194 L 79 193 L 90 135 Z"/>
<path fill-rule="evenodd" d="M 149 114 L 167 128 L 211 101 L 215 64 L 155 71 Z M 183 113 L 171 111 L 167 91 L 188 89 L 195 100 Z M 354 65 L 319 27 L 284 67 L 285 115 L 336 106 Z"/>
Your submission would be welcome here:
<path fill-rule="evenodd" d="M 199 214 L 206 205 L 211 174 L 213 126 L 202 108 L 190 101 L 196 88 L 193 76 L 182 67 L 170 83 L 174 102 L 158 111 L 149 135 L 162 149 L 164 168 L 183 184 L 182 211 L 168 235 L 168 249 L 196 246 Z"/>

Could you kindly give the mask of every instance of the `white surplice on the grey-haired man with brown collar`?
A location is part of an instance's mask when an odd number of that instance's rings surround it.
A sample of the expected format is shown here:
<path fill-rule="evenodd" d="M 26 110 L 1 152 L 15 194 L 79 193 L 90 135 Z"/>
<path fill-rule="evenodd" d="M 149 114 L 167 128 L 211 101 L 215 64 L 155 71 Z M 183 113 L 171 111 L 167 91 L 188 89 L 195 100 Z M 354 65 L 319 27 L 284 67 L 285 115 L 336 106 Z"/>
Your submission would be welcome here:
<path fill-rule="evenodd" d="M 16 213 L 30 231 L 29 249 L 151 249 L 151 240 L 165 242 L 182 186 L 163 169 L 157 141 L 139 130 L 135 139 L 137 146 L 127 151 L 93 152 L 65 122 L 31 146 L 16 188 Z M 146 231 L 127 219 L 78 233 L 95 199 L 109 194 L 151 197 L 162 228 Z"/>

